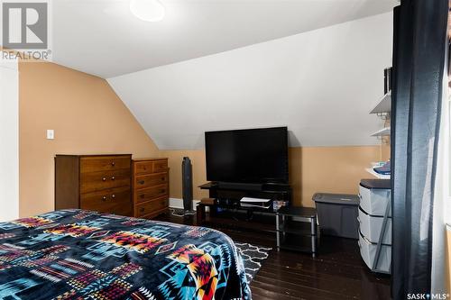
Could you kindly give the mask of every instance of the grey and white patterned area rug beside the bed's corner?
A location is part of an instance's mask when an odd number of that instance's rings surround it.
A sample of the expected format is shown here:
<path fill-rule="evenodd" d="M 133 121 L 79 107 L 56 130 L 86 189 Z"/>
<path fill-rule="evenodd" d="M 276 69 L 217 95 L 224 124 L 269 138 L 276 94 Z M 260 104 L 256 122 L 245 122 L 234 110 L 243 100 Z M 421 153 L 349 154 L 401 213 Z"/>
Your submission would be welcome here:
<path fill-rule="evenodd" d="M 236 249 L 243 258 L 247 282 L 251 283 L 258 270 L 262 268 L 263 260 L 268 259 L 269 252 L 272 250 L 272 248 L 255 246 L 246 242 L 235 242 L 235 245 Z"/>

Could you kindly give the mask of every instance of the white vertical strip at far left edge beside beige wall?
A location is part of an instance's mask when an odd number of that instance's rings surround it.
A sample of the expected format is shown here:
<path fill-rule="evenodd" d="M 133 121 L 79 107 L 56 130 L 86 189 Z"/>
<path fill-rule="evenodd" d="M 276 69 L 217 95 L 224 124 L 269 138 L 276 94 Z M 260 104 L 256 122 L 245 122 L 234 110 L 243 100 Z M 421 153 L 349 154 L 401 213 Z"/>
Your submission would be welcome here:
<path fill-rule="evenodd" d="M 18 217 L 19 71 L 17 61 L 0 59 L 0 222 Z"/>

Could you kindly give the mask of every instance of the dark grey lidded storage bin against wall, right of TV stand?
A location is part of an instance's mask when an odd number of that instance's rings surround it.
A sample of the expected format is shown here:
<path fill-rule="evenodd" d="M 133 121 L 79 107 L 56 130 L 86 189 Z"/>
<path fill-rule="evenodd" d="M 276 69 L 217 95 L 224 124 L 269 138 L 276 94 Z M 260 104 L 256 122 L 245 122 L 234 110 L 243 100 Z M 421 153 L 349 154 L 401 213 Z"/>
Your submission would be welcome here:
<path fill-rule="evenodd" d="M 313 195 L 313 201 L 323 234 L 358 240 L 358 195 L 317 193 Z"/>

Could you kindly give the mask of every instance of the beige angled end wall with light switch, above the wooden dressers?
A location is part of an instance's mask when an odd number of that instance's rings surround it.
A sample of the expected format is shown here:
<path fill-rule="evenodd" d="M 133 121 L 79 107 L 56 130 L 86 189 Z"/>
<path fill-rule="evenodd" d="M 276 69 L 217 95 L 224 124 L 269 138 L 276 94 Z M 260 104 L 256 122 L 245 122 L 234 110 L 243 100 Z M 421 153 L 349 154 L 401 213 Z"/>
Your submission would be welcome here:
<path fill-rule="evenodd" d="M 159 155 L 106 80 L 43 62 L 21 62 L 19 72 L 21 216 L 54 209 L 57 153 Z"/>

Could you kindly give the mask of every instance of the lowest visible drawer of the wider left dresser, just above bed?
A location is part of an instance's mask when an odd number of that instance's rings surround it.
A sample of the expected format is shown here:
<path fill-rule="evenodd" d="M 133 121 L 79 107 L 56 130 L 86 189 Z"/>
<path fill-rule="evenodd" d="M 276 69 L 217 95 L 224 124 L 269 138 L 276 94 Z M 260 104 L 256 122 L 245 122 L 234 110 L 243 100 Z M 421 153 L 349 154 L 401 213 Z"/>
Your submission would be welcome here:
<path fill-rule="evenodd" d="M 80 195 L 80 208 L 100 213 L 130 215 L 132 211 L 130 187 L 124 186 Z"/>

